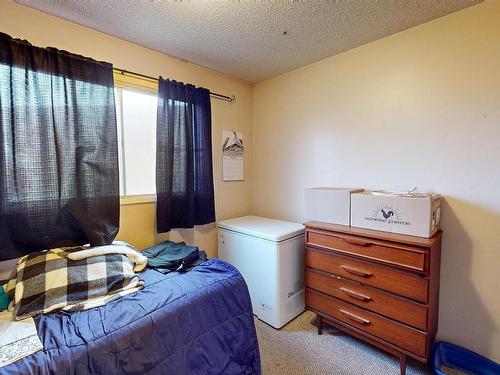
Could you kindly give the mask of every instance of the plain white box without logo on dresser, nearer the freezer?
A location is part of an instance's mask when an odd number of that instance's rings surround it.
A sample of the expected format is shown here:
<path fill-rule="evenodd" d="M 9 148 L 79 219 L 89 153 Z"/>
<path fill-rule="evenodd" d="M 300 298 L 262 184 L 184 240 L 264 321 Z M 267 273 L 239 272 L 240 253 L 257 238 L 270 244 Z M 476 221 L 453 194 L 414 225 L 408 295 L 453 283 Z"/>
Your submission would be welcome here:
<path fill-rule="evenodd" d="M 349 225 L 351 193 L 363 189 L 320 187 L 306 189 L 306 219 Z"/>

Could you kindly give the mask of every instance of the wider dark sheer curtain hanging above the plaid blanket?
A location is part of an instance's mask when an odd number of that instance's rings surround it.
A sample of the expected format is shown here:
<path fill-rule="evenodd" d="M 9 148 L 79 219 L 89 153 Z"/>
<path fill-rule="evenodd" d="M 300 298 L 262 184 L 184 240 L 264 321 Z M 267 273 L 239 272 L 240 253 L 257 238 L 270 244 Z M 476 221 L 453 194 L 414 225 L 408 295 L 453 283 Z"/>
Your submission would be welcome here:
<path fill-rule="evenodd" d="M 0 260 L 110 243 L 117 153 L 112 66 L 0 33 Z"/>

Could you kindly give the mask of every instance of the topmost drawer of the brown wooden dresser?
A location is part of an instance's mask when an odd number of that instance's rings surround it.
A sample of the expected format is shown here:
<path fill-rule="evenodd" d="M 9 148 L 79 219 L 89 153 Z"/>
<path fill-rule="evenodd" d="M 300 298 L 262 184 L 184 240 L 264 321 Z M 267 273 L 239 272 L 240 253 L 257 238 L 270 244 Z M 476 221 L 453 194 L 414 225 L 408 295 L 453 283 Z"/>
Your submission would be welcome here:
<path fill-rule="evenodd" d="M 422 248 L 336 232 L 308 230 L 306 245 L 377 261 L 411 271 L 425 273 L 428 252 Z"/>

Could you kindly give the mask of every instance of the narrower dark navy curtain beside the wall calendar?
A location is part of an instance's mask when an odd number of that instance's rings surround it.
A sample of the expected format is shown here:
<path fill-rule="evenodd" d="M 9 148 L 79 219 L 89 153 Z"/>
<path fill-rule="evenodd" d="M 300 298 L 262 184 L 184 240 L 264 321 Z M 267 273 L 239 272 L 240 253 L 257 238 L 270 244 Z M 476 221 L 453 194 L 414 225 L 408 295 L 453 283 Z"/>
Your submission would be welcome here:
<path fill-rule="evenodd" d="M 214 222 L 210 92 L 160 78 L 157 116 L 158 232 Z"/>

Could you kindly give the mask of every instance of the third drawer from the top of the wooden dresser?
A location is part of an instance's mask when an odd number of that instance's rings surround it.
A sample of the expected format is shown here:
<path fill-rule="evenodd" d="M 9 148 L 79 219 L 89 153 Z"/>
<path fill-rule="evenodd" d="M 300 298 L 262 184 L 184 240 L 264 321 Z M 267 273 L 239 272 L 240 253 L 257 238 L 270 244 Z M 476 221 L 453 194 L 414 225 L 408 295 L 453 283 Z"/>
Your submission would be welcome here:
<path fill-rule="evenodd" d="M 305 271 L 305 285 L 413 327 L 426 328 L 427 307 L 419 303 L 312 269 Z"/>

